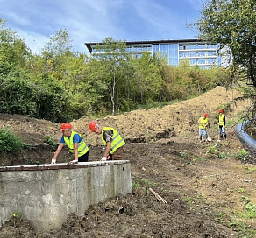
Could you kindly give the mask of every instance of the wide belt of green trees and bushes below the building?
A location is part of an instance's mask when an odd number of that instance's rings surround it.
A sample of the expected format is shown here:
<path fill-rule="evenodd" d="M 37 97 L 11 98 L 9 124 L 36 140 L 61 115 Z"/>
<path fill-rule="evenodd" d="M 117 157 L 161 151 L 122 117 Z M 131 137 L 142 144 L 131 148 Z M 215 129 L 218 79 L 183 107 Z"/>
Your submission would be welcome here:
<path fill-rule="evenodd" d="M 237 73 L 200 69 L 188 61 L 168 66 L 167 58 L 144 52 L 132 58 L 125 41 L 103 39 L 92 57 L 75 52 L 68 31 L 60 30 L 32 55 L 0 19 L 0 112 L 52 122 L 104 116 L 200 95 L 227 86 Z M 14 43 L 13 43 L 14 42 Z M 5 44 L 6 43 L 6 44 Z M 12 44 L 13 43 L 13 44 Z"/>

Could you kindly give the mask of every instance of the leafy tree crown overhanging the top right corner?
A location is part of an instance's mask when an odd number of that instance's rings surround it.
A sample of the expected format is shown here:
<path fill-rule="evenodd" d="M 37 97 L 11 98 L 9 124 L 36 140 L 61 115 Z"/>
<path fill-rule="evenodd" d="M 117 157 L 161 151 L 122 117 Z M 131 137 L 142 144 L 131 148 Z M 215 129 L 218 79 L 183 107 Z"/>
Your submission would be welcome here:
<path fill-rule="evenodd" d="M 199 38 L 231 50 L 233 63 L 247 71 L 256 88 L 256 2 L 255 0 L 210 0 L 192 26 Z"/>

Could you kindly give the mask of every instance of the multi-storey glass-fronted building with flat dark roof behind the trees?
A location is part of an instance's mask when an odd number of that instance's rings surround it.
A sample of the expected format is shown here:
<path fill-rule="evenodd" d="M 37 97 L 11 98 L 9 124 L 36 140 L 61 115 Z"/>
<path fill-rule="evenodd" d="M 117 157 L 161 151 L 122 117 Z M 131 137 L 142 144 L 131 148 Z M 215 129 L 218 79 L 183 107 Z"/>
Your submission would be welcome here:
<path fill-rule="evenodd" d="M 100 43 L 85 43 L 89 52 L 96 53 L 95 45 Z M 126 42 L 126 51 L 141 57 L 143 52 L 167 55 L 168 64 L 178 66 L 187 59 L 192 66 L 210 68 L 222 66 L 222 57 L 218 53 L 219 45 L 213 45 L 199 39 L 159 40 L 159 41 L 131 41 Z"/>

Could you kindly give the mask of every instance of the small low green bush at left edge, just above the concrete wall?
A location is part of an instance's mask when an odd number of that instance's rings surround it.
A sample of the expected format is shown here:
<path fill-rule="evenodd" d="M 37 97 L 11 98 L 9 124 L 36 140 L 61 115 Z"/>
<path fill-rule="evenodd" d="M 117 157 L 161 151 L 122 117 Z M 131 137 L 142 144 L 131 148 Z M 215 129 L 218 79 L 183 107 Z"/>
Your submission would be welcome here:
<path fill-rule="evenodd" d="M 23 143 L 11 129 L 0 129 L 0 151 L 17 153 L 25 147 Z"/>

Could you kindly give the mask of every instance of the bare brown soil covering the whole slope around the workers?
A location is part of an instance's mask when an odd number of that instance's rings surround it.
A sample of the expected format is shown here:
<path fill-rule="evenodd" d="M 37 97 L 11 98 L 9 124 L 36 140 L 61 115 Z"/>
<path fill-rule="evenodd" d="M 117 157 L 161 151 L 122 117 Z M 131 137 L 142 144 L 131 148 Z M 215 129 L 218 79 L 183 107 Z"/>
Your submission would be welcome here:
<path fill-rule="evenodd" d="M 237 91 L 217 87 L 194 99 L 162 109 L 141 109 L 99 119 L 125 138 L 124 159 L 132 165 L 132 193 L 89 207 L 83 216 L 69 214 L 60 229 L 36 233 L 25 217 L 11 217 L 0 228 L 6 237 L 253 237 L 255 219 L 245 214 L 245 198 L 256 204 L 256 166 L 237 158 L 242 144 L 231 125 L 250 102 L 236 100 Z M 217 144 L 217 109 L 224 108 L 227 140 Z M 197 120 L 207 112 L 211 142 L 200 143 Z M 100 137 L 90 133 L 85 117 L 71 122 L 90 146 L 89 160 L 102 156 Z M 50 163 L 55 148 L 45 137 L 60 141 L 60 124 L 26 116 L 0 114 L 31 148 L 2 154 L 1 165 Z M 217 149 L 217 150 L 215 150 Z M 57 161 L 73 159 L 65 149 Z M 152 188 L 167 204 L 149 192 Z M 247 201 L 248 202 L 248 201 Z M 246 224 L 245 226 L 242 224 Z M 247 235 L 247 236 L 246 236 Z"/>

